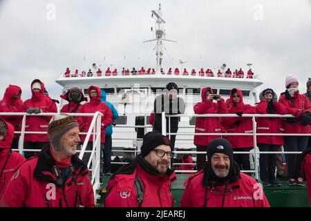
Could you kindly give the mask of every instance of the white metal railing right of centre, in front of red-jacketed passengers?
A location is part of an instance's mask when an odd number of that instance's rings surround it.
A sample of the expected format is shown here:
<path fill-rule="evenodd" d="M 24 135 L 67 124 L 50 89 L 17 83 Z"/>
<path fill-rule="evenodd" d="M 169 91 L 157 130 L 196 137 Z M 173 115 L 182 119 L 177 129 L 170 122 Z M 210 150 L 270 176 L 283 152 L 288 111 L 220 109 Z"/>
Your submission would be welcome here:
<path fill-rule="evenodd" d="M 169 133 L 165 133 L 166 127 L 163 125 L 166 125 L 166 117 L 169 117 Z M 252 133 L 171 133 L 171 117 L 238 117 L 236 114 L 192 114 L 192 115 L 186 115 L 186 114 L 180 114 L 180 115 L 167 115 L 164 112 L 162 112 L 162 134 L 163 135 L 243 135 L 243 136 L 253 136 L 254 139 L 254 153 L 252 151 L 241 151 L 241 152 L 234 152 L 238 154 L 254 154 L 254 170 L 252 171 L 243 171 L 243 172 L 251 172 L 255 173 L 255 179 L 258 180 L 258 157 L 260 154 L 275 154 L 275 153 L 281 153 L 281 154 L 300 154 L 301 152 L 297 151 L 258 151 L 257 146 L 257 140 L 256 136 L 267 136 L 267 135 L 276 135 L 276 136 L 311 136 L 311 134 L 299 134 L 299 133 L 256 133 L 256 119 L 255 117 L 294 117 L 293 115 L 278 115 L 278 114 L 244 114 L 242 117 L 252 117 L 252 124 L 253 124 L 253 132 Z M 206 154 L 206 152 L 198 152 L 198 151 L 174 151 L 174 153 L 196 153 L 196 154 Z M 196 171 L 176 171 L 178 173 L 195 173 Z"/>

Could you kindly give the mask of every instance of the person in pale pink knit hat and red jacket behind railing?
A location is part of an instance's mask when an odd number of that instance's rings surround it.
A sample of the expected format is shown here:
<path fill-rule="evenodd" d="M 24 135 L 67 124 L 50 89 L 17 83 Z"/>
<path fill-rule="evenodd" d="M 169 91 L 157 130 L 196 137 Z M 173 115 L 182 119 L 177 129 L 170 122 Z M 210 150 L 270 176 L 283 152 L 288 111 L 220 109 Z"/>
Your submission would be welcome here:
<path fill-rule="evenodd" d="M 286 77 L 284 93 L 281 93 L 279 102 L 283 104 L 289 114 L 295 117 L 283 119 L 285 133 L 311 133 L 311 103 L 305 95 L 300 95 L 298 80 L 294 77 Z M 308 136 L 285 136 L 285 151 L 304 151 L 308 145 Z M 288 171 L 288 185 L 304 186 L 303 174 L 298 166 L 298 156 L 287 154 L 286 166 Z"/>

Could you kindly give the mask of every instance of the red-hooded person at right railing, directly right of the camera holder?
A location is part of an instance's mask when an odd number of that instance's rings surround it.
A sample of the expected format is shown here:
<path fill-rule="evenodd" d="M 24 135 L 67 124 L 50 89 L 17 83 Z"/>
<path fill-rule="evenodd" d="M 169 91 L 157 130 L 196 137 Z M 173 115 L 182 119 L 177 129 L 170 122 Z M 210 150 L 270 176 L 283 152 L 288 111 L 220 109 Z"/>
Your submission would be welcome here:
<path fill-rule="evenodd" d="M 227 133 L 253 133 L 252 117 L 242 117 L 243 114 L 255 114 L 256 108 L 249 104 L 243 103 L 242 91 L 233 88 L 230 91 L 230 108 L 228 113 L 235 113 L 238 117 L 224 117 L 223 125 L 227 128 Z M 250 151 L 254 148 L 254 140 L 252 135 L 229 135 L 227 140 L 232 144 L 233 150 Z M 238 163 L 244 171 L 250 170 L 249 154 L 234 154 L 234 161 Z M 250 175 L 250 173 L 246 173 Z"/>

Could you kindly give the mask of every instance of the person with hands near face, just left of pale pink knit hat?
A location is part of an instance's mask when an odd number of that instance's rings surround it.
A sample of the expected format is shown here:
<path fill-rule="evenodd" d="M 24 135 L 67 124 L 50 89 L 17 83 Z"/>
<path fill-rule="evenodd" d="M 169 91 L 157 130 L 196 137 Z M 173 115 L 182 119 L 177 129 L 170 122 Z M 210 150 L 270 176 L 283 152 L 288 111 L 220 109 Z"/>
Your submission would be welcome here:
<path fill-rule="evenodd" d="M 278 97 L 274 90 L 270 88 L 263 90 L 259 99 L 261 102 L 256 105 L 256 113 L 280 115 L 287 113 L 285 106 L 277 102 Z M 256 122 L 256 133 L 283 133 L 284 131 L 280 117 L 256 117 Z M 283 136 L 257 136 L 256 139 L 259 151 L 275 152 L 284 144 Z M 263 186 L 281 186 L 274 175 L 276 154 L 261 154 L 259 156 L 259 167 Z"/>

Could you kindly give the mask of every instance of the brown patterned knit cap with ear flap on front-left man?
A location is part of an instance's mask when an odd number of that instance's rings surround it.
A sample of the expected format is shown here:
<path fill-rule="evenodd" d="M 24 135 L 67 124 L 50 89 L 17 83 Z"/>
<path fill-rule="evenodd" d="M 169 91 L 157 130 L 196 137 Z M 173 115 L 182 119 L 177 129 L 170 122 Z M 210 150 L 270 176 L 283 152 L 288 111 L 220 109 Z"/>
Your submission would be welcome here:
<path fill-rule="evenodd" d="M 77 120 L 69 115 L 55 115 L 48 125 L 48 135 L 50 137 L 50 144 L 56 151 L 62 149 L 62 137 L 64 134 L 74 127 L 79 127 Z"/>

